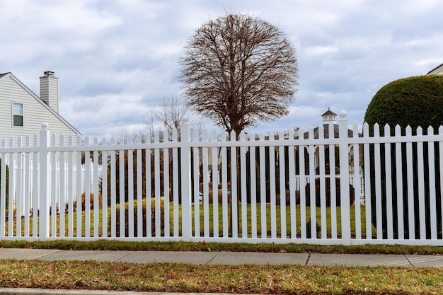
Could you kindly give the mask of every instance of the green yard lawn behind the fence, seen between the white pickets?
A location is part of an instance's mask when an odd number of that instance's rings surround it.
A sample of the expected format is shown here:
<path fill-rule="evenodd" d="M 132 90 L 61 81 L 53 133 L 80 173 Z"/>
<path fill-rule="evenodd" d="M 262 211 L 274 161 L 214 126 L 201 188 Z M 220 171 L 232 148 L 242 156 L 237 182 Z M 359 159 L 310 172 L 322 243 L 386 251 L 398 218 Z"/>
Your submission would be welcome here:
<path fill-rule="evenodd" d="M 205 214 L 204 211 L 204 207 L 202 204 L 199 205 L 199 210 L 198 210 L 198 217 L 199 217 L 199 224 L 198 226 L 196 226 L 195 223 L 195 204 L 192 204 L 192 233 L 195 234 L 195 236 L 205 236 L 205 233 L 209 236 L 214 236 L 214 222 L 217 222 L 218 224 L 218 236 L 223 236 L 224 233 L 226 234 L 229 231 L 229 226 L 231 224 L 231 212 L 229 212 L 229 216 L 227 217 L 226 221 L 224 222 L 223 220 L 223 206 L 222 204 L 219 204 L 217 207 L 217 213 L 214 216 L 214 206 L 212 204 L 210 204 L 207 207 L 207 213 Z M 169 233 L 172 235 L 174 232 L 174 222 L 178 222 L 178 229 L 181 232 L 181 205 L 178 205 L 178 220 L 175 221 L 174 220 L 174 207 L 172 204 L 169 204 L 169 216 L 170 216 L 170 222 L 169 222 Z M 317 207 L 315 210 L 316 213 L 316 223 L 317 223 L 317 235 L 318 237 L 321 237 L 322 231 L 321 231 L 321 224 L 322 224 L 322 219 L 321 219 L 321 208 Z M 294 229 L 293 229 L 293 224 L 292 224 L 292 219 L 291 219 L 291 214 L 290 214 L 290 207 L 289 206 L 285 206 L 284 208 L 281 208 L 280 205 L 276 205 L 275 206 L 275 213 L 273 215 L 275 215 L 275 224 L 272 224 L 271 222 L 271 205 L 270 204 L 266 204 L 266 208 L 265 208 L 265 219 L 263 219 L 265 221 L 265 226 L 266 229 L 265 231 L 262 231 L 262 224 L 263 224 L 263 220 L 262 220 L 262 209 L 260 207 L 260 204 L 256 205 L 256 216 L 255 219 L 252 218 L 253 216 L 253 212 L 252 212 L 252 208 L 251 208 L 251 204 L 247 204 L 246 207 L 246 227 L 245 230 L 247 231 L 247 236 L 248 237 L 252 237 L 252 236 L 256 236 L 258 238 L 262 237 L 263 235 L 265 235 L 265 237 L 270 238 L 272 237 L 272 233 L 275 234 L 275 237 L 277 238 L 281 238 L 282 236 L 282 226 L 286 226 L 285 232 L 286 232 L 286 236 L 287 238 L 291 238 L 292 234 L 295 233 L 297 238 L 301 238 L 301 231 L 302 231 L 302 224 L 301 224 L 301 207 L 300 205 L 297 205 L 296 207 L 296 224 L 294 225 Z M 282 212 L 285 212 L 285 223 L 282 224 Z M 323 223 L 326 224 L 326 229 L 323 231 L 323 234 L 327 237 L 327 238 L 331 238 L 331 237 L 336 237 L 336 238 L 340 238 L 341 236 L 341 210 L 340 207 L 337 207 L 335 210 L 335 214 L 333 214 L 333 212 L 331 211 L 330 207 L 327 207 L 326 210 L 326 218 L 323 219 Z M 154 210 L 153 210 L 154 213 Z M 88 232 L 89 236 L 94 236 L 94 232 L 96 231 L 98 233 L 98 236 L 103 236 L 103 220 L 102 220 L 102 216 L 103 216 L 103 209 L 100 208 L 100 210 L 98 210 L 98 220 L 99 220 L 99 224 L 98 224 L 98 229 L 94 229 L 94 210 L 91 209 L 90 210 L 90 216 L 88 218 L 89 220 L 89 224 L 86 225 L 86 216 L 85 216 L 85 211 L 81 212 L 81 236 L 86 236 L 86 233 Z M 111 210 L 108 209 L 108 219 L 111 216 Z M 238 228 L 238 236 L 241 237 L 243 236 L 243 209 L 241 207 L 241 204 L 238 204 L 238 223 L 237 223 L 237 228 Z M 304 225 L 304 231 L 305 234 L 307 235 L 307 237 L 309 238 L 309 236 L 311 235 L 311 231 L 310 231 L 310 224 L 311 224 L 311 208 L 310 207 L 306 207 L 306 210 L 304 212 L 304 216 L 305 217 L 305 224 Z M 361 232 L 361 236 L 362 238 L 366 238 L 366 217 L 365 217 L 365 211 L 364 211 L 364 206 L 361 207 L 361 220 L 360 220 L 360 232 Z M 69 226 L 67 221 L 69 220 L 69 216 L 68 214 L 64 214 L 64 222 L 60 222 L 60 218 L 62 217 L 62 215 L 57 214 L 57 236 L 60 235 L 60 231 L 61 229 L 64 231 L 64 235 L 68 236 L 69 233 Z M 214 218 L 215 217 L 215 218 Z M 74 212 L 73 216 L 72 216 L 72 220 L 73 220 L 73 227 L 71 229 L 71 231 L 73 232 L 74 236 L 79 236 L 79 232 L 77 231 L 78 229 L 78 220 L 79 216 L 77 214 L 77 212 Z M 119 219 L 119 212 L 117 212 L 116 214 L 116 219 L 118 221 Z M 134 219 L 137 219 L 137 210 L 134 211 Z M 335 226 L 333 228 L 333 219 L 335 219 Z M 351 219 L 351 236 L 352 238 L 355 238 L 356 236 L 356 232 L 357 232 L 357 227 L 356 227 L 356 222 L 355 222 L 355 206 L 351 206 L 350 207 L 350 219 Z M 153 219 L 154 222 L 155 219 Z M 33 218 L 30 217 L 29 218 L 30 221 L 30 225 L 29 225 L 29 236 L 33 236 Z M 127 221 L 125 221 L 127 223 Z M 24 219 L 22 219 L 22 223 L 21 223 L 21 233 L 22 236 L 25 235 L 25 223 L 24 223 Z M 61 226 L 61 224 L 64 224 L 64 226 Z M 52 219 L 50 219 L 50 231 L 52 232 Z M 117 226 L 118 226 L 118 222 L 117 222 Z M 6 236 L 8 235 L 8 228 L 9 228 L 9 224 L 8 222 L 6 222 Z M 134 228 L 137 229 L 137 224 L 134 224 Z M 155 226 L 153 226 L 153 228 L 155 228 Z M 13 224 L 13 232 L 14 232 L 14 236 L 16 236 L 16 221 L 14 221 Z M 200 235 L 198 233 L 195 233 L 196 229 L 199 229 Z M 255 231 L 253 231 L 253 229 L 255 229 Z M 88 230 L 88 231 L 87 231 Z M 126 229 L 126 231 L 128 231 L 128 229 Z M 146 232 L 146 225 L 145 225 L 145 220 L 144 220 L 144 231 Z M 375 234 L 375 229 L 372 227 L 372 234 Z M 111 235 L 111 231 L 110 231 L 110 221 L 108 220 L 108 236 Z M 155 231 L 154 229 L 151 231 L 151 235 L 155 235 Z M 134 236 L 137 236 L 137 234 L 135 234 Z M 161 228 L 161 236 L 164 236 L 164 226 L 162 226 Z"/>

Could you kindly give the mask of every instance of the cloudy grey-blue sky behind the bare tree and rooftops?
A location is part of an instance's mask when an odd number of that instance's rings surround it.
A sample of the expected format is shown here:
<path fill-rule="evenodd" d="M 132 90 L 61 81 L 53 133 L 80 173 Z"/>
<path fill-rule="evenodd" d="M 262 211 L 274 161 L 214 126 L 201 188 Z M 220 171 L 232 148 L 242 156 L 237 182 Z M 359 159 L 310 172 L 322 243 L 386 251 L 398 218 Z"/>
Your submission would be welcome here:
<path fill-rule="evenodd" d="M 362 124 L 381 86 L 443 63 L 439 0 L 0 0 L 0 73 L 40 95 L 39 77 L 54 71 L 59 112 L 84 135 L 138 130 L 183 91 L 188 38 L 226 11 L 277 25 L 297 51 L 289 115 L 250 132 L 314 127 L 328 107 Z"/>

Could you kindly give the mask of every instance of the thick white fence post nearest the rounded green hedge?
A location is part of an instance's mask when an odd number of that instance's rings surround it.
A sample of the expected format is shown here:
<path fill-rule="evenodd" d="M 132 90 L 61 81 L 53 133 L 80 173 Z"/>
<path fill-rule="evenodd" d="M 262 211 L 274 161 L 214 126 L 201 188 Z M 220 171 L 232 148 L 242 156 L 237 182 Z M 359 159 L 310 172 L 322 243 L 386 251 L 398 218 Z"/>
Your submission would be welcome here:
<path fill-rule="evenodd" d="M 349 191 L 349 139 L 347 134 L 347 113 L 339 114 L 339 144 L 340 150 L 340 206 L 342 212 L 342 243 L 351 244 L 350 191 Z"/>

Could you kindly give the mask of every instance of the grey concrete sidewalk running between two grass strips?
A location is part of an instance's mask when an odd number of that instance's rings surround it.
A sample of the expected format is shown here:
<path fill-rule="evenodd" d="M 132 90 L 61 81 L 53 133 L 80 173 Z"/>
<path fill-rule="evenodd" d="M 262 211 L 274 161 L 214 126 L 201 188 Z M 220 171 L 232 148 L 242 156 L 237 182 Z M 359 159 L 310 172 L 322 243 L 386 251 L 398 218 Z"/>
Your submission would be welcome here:
<path fill-rule="evenodd" d="M 110 262 L 184 262 L 220 265 L 349 265 L 443 267 L 437 255 L 368 255 L 319 253 L 244 253 L 244 252 L 165 252 L 112 250 L 45 250 L 0 248 L 1 259 L 25 260 L 97 260 Z"/>

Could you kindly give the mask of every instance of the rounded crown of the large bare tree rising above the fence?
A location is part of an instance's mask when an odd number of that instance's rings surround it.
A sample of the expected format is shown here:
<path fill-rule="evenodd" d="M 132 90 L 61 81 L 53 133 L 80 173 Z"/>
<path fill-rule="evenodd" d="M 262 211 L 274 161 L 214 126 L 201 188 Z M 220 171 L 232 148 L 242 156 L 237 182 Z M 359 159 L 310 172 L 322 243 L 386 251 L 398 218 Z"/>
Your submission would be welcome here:
<path fill-rule="evenodd" d="M 180 58 L 188 106 L 234 130 L 287 115 L 298 85 L 294 47 L 275 25 L 228 13 L 196 30 Z"/>

